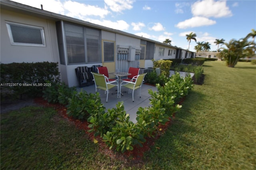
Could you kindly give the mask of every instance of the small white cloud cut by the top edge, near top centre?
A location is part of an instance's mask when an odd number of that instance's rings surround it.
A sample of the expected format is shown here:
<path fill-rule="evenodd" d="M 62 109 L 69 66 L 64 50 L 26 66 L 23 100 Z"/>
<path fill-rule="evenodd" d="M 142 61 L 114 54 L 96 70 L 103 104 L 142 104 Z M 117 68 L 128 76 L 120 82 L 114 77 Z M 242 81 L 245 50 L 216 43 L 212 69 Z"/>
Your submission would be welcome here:
<path fill-rule="evenodd" d="M 105 4 L 114 12 L 122 12 L 133 8 L 133 0 L 104 0 Z"/>

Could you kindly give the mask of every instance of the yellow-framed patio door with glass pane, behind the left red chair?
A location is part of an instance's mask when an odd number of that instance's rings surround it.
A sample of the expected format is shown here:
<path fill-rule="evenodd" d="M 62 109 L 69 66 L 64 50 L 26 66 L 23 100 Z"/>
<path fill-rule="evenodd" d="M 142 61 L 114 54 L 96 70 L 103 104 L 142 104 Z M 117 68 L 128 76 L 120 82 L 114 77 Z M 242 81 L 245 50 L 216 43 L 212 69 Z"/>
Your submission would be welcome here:
<path fill-rule="evenodd" d="M 116 45 L 114 41 L 102 40 L 102 65 L 108 68 L 108 73 L 116 71 L 115 64 L 115 51 Z M 114 78 L 114 75 L 109 75 L 110 78 Z"/>

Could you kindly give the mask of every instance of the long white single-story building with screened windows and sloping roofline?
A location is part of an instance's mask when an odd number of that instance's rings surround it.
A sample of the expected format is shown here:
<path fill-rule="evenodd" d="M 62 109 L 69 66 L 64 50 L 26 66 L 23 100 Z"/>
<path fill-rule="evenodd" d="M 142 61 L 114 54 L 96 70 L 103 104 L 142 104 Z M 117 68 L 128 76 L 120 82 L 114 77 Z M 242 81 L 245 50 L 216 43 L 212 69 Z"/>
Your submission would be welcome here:
<path fill-rule="evenodd" d="M 179 47 L 13 1 L 0 1 L 0 62 L 58 62 L 62 81 L 78 86 L 75 68 L 109 72 L 152 67 L 152 59 L 195 57 Z"/>

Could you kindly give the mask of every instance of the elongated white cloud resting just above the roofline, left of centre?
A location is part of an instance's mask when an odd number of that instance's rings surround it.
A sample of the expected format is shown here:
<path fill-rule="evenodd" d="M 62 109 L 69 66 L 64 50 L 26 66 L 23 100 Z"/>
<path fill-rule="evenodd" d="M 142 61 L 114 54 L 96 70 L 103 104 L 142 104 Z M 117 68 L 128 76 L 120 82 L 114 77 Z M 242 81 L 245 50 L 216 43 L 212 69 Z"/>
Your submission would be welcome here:
<path fill-rule="evenodd" d="M 98 24 L 101 26 L 105 26 L 108 28 L 113 28 L 116 30 L 128 30 L 129 24 L 127 24 L 124 20 L 118 20 L 116 22 L 112 22 L 110 20 L 92 20 L 92 19 L 87 19 L 88 22 Z"/>

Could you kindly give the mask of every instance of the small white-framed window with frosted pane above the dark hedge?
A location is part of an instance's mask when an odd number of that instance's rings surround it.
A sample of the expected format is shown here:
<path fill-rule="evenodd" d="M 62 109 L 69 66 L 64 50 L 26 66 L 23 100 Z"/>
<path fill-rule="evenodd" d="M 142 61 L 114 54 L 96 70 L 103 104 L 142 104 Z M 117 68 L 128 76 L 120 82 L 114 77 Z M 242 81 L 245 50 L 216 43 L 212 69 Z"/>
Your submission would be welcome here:
<path fill-rule="evenodd" d="M 11 22 L 6 25 L 13 45 L 45 46 L 43 28 Z"/>

